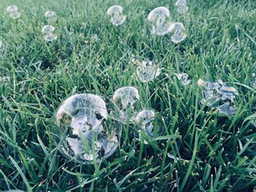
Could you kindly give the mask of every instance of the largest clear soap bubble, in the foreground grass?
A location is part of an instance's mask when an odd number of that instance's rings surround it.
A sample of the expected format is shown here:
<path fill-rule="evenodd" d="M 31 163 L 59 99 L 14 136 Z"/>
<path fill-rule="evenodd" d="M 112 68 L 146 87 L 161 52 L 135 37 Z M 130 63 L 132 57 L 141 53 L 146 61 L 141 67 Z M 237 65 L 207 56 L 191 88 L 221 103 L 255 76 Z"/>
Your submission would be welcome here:
<path fill-rule="evenodd" d="M 59 150 L 77 162 L 100 162 L 118 147 L 118 108 L 109 98 L 96 94 L 75 94 L 58 108 L 55 130 Z"/>

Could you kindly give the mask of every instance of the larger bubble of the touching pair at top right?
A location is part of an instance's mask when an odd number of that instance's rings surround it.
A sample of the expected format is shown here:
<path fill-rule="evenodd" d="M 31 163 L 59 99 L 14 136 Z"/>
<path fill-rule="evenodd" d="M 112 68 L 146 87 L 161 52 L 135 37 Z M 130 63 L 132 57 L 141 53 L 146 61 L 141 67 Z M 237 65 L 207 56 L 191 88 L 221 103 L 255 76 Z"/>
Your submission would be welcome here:
<path fill-rule="evenodd" d="M 159 6 L 154 10 L 151 10 L 147 19 L 152 27 L 151 33 L 157 35 L 164 35 L 170 32 L 171 22 L 169 21 L 170 11 L 164 7 Z"/>

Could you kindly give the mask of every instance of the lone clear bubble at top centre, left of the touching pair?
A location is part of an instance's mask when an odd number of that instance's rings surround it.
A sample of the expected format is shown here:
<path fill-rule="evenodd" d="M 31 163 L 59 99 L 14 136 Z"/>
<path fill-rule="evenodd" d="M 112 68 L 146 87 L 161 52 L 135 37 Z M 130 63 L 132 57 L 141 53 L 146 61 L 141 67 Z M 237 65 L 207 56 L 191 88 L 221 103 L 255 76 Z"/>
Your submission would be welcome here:
<path fill-rule="evenodd" d="M 106 13 L 111 16 L 114 26 L 120 26 L 126 21 L 126 15 L 122 14 L 122 6 L 110 6 Z"/>

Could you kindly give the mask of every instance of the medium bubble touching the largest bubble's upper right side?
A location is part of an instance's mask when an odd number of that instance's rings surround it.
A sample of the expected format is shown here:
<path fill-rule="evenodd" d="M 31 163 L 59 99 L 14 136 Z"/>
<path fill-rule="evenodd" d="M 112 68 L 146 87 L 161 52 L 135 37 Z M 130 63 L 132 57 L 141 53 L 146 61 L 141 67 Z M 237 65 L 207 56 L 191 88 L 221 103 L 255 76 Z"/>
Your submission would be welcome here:
<path fill-rule="evenodd" d="M 120 110 L 122 122 L 126 122 L 127 118 L 129 122 L 134 122 L 134 108 L 138 100 L 138 90 L 134 86 L 124 86 L 114 92 L 113 101 Z"/>

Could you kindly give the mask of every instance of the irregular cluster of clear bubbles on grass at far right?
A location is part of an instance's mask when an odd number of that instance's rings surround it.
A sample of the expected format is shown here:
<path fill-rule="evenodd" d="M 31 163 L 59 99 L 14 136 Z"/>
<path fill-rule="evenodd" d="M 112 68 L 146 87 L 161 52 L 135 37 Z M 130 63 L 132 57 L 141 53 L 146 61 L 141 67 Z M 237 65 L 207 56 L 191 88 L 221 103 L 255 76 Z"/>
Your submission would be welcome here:
<path fill-rule="evenodd" d="M 225 86 L 221 80 L 204 82 L 202 79 L 198 80 L 198 86 L 202 89 L 200 101 L 202 104 L 214 107 L 223 115 L 235 114 L 237 108 L 234 105 L 234 98 L 238 95 L 238 91 L 233 86 Z"/>

